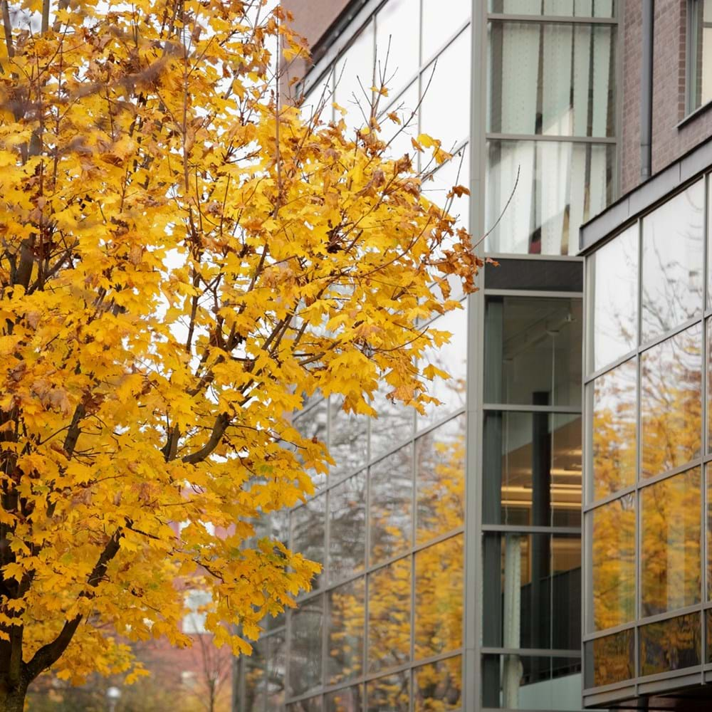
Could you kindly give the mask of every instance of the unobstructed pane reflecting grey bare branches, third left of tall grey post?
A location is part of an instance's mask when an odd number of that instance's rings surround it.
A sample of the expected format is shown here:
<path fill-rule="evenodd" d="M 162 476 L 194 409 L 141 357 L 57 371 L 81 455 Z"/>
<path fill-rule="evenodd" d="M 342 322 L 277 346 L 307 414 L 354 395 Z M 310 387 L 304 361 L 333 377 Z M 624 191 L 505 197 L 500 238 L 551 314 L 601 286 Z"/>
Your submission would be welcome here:
<path fill-rule="evenodd" d="M 329 580 L 363 570 L 366 550 L 366 471 L 329 492 Z"/>

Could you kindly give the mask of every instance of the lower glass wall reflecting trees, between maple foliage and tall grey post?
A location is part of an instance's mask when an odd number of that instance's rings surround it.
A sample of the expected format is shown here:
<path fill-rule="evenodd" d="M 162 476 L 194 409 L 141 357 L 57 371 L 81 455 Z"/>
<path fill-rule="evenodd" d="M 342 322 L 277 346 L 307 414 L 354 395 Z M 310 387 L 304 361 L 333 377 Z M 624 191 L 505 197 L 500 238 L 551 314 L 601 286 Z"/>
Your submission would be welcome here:
<path fill-rule="evenodd" d="M 239 709 L 460 709 L 466 309 L 434 326 L 454 333 L 436 362 L 452 375 L 444 406 L 426 417 L 391 407 L 370 422 L 330 399 L 295 417 L 339 465 L 258 535 L 323 572 L 296 609 L 264 622 L 241 662 Z"/>

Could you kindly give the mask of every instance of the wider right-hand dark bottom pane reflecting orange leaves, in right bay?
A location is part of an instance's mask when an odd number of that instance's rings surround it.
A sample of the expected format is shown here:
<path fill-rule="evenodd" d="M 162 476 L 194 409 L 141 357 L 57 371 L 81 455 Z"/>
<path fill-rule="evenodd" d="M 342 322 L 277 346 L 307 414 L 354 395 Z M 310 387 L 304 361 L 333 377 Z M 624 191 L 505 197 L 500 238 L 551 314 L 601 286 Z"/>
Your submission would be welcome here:
<path fill-rule="evenodd" d="M 640 674 L 654 675 L 699 665 L 701 633 L 698 613 L 640 627 Z"/>

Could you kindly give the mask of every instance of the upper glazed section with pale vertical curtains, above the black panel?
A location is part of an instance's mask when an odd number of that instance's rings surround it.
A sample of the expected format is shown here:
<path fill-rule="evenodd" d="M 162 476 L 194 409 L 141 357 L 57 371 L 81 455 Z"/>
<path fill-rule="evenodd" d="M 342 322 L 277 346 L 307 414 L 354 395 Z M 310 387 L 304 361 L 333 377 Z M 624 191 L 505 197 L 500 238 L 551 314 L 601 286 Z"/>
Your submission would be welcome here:
<path fill-rule="evenodd" d="M 615 5 L 488 1 L 489 253 L 575 254 L 579 226 L 612 201 Z"/>

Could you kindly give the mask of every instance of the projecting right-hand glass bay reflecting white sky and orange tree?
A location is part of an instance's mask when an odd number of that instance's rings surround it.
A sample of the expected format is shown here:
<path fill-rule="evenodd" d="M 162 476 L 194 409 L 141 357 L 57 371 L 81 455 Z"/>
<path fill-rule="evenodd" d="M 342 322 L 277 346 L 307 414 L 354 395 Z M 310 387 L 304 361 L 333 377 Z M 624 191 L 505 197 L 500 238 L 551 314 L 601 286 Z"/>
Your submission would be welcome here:
<path fill-rule="evenodd" d="M 587 258 L 588 696 L 712 663 L 709 184 Z"/>

